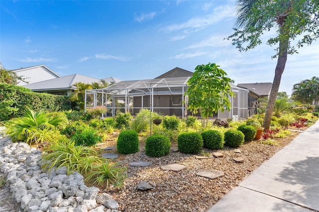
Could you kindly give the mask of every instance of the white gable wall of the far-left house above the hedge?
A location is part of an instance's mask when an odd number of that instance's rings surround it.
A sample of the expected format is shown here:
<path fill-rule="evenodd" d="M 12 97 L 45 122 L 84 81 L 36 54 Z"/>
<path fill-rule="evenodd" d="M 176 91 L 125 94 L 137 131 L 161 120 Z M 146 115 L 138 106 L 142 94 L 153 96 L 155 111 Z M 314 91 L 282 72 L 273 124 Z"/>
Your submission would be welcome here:
<path fill-rule="evenodd" d="M 22 69 L 21 71 L 15 70 L 14 72 L 18 76 L 25 78 L 25 81 L 29 82 L 29 84 L 58 78 L 55 74 L 44 67 L 35 67 L 26 70 Z M 26 83 L 19 82 L 18 85 L 23 86 L 26 85 Z"/>

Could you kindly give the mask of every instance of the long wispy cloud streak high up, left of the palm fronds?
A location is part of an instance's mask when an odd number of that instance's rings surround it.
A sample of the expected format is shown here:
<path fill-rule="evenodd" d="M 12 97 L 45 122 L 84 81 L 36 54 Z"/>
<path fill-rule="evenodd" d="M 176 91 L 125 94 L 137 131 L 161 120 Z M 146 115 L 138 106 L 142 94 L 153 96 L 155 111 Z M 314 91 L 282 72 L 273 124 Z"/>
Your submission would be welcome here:
<path fill-rule="evenodd" d="M 207 26 L 210 26 L 220 20 L 235 17 L 235 15 L 236 15 L 236 11 L 234 7 L 231 7 L 229 5 L 219 6 L 214 8 L 212 14 L 205 15 L 204 17 L 194 17 L 187 20 L 184 23 L 172 24 L 162 28 L 161 30 L 168 33 L 173 31 L 179 31 L 179 30 L 197 31 L 199 29 L 206 28 Z"/>

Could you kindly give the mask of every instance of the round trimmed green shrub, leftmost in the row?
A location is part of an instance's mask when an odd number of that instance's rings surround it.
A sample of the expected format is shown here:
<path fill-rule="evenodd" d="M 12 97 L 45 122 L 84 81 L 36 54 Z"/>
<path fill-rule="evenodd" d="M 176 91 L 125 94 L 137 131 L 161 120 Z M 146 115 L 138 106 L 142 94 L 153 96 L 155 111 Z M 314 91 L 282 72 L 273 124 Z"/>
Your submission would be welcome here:
<path fill-rule="evenodd" d="M 121 154 L 131 154 L 139 151 L 139 136 L 134 130 L 124 130 L 119 134 L 116 148 Z"/>

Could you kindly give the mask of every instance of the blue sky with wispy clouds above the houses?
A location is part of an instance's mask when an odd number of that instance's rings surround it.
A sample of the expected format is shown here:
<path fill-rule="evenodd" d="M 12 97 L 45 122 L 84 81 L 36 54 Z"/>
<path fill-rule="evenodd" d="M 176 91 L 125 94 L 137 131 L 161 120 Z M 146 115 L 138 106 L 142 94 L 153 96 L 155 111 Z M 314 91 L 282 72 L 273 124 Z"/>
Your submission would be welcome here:
<path fill-rule="evenodd" d="M 235 0 L 0 1 L 0 62 L 45 65 L 60 76 L 153 79 L 175 67 L 220 65 L 238 83 L 273 82 L 277 59 L 265 42 L 239 52 Z M 274 32 L 264 35 L 266 38 Z M 319 42 L 289 55 L 279 91 L 319 76 Z"/>

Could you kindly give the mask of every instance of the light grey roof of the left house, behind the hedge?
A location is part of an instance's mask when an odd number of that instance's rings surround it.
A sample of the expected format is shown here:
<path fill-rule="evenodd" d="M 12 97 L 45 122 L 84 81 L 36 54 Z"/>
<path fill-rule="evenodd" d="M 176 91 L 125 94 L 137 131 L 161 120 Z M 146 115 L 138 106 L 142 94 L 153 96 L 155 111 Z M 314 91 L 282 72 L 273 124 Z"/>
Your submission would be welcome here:
<path fill-rule="evenodd" d="M 100 82 L 100 80 L 80 74 L 72 74 L 65 77 L 27 84 L 23 87 L 31 89 L 32 91 L 74 90 L 76 87 L 73 85 L 79 82 L 91 84 L 93 82 Z"/>

